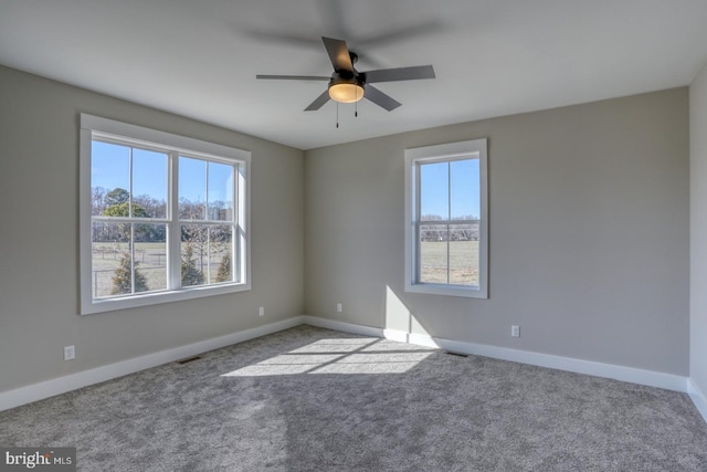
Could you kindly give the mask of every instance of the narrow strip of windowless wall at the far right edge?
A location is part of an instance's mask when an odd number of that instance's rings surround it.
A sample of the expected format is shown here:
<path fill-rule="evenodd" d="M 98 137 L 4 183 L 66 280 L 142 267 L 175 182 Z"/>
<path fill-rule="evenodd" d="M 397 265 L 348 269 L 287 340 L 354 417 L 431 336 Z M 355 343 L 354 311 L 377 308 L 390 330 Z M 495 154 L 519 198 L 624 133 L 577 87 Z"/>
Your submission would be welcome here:
<path fill-rule="evenodd" d="M 689 87 L 690 366 L 707 395 L 707 66 Z"/>

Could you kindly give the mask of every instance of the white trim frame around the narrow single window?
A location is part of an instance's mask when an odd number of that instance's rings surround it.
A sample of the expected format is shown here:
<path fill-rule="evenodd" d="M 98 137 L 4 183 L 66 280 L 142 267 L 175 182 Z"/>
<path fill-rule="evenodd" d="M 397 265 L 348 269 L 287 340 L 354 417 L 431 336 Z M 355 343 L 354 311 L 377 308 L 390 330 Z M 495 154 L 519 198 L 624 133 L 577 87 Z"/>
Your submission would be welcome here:
<path fill-rule="evenodd" d="M 481 223 L 478 285 L 462 286 L 447 284 L 418 283 L 418 241 L 415 237 L 415 214 L 418 213 L 416 164 L 434 160 L 450 160 L 477 155 L 481 176 Z M 488 171 L 487 139 L 473 139 L 436 146 L 405 149 L 405 292 L 433 295 L 488 298 Z"/>

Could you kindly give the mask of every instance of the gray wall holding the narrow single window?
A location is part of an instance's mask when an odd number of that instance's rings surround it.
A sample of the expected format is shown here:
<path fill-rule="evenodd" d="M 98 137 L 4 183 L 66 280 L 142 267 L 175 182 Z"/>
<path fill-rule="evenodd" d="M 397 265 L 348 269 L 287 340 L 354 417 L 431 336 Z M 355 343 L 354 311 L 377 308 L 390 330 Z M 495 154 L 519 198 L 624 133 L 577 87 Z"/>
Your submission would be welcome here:
<path fill-rule="evenodd" d="M 477 137 L 489 300 L 405 293 L 403 149 Z M 306 151 L 306 313 L 685 376 L 688 143 L 682 87 Z"/>

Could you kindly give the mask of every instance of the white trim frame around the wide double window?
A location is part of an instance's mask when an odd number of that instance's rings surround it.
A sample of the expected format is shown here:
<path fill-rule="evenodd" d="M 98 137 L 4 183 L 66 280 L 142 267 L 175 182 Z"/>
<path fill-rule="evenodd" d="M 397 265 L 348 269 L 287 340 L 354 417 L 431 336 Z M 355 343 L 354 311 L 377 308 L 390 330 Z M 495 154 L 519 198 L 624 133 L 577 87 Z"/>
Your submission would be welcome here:
<path fill-rule="evenodd" d="M 240 164 L 238 183 L 239 221 L 242 229 L 241 244 L 244 251 L 241 258 L 241 270 L 244 276 L 243 282 L 224 283 L 219 285 L 182 287 L 180 290 L 149 292 L 116 298 L 93 298 L 92 292 L 92 240 L 91 240 L 91 148 L 93 133 L 105 133 L 114 136 L 122 136 L 131 141 L 143 141 L 146 145 L 166 145 L 184 155 L 198 157 L 207 156 L 211 160 L 217 160 L 214 156 L 238 161 Z M 127 123 L 115 122 L 113 119 L 98 116 L 81 114 L 80 132 L 80 176 L 78 176 L 78 254 L 80 254 L 80 280 L 81 280 L 81 306 L 80 314 L 88 315 L 94 313 L 110 312 L 115 310 L 134 308 L 149 306 L 160 303 L 177 302 L 181 300 L 199 298 L 204 296 L 221 295 L 226 293 L 243 292 L 251 290 L 251 182 L 250 182 L 251 153 L 233 147 L 222 146 L 171 133 L 159 132 Z M 169 198 L 176 199 L 176 195 Z M 168 223 L 169 224 L 169 223 Z M 170 242 L 168 241 L 168 244 Z M 173 241 L 170 251 L 179 251 L 175 248 Z M 244 266 L 243 266 L 244 265 Z M 179 271 L 179 268 L 173 271 Z M 173 275 L 173 274 L 172 274 Z"/>

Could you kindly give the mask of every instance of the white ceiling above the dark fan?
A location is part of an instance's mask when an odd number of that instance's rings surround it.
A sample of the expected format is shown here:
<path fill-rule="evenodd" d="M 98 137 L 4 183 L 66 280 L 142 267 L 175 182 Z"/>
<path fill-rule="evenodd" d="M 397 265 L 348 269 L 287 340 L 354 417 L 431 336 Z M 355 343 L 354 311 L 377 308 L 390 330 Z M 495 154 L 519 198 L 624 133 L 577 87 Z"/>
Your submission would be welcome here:
<path fill-rule="evenodd" d="M 377 84 L 402 103 L 303 109 L 329 75 L 432 64 Z M 687 85 L 706 0 L 0 0 L 0 64 L 300 149 Z M 1 84 L 0 84 L 1 86 Z"/>

